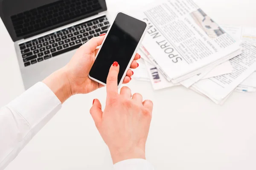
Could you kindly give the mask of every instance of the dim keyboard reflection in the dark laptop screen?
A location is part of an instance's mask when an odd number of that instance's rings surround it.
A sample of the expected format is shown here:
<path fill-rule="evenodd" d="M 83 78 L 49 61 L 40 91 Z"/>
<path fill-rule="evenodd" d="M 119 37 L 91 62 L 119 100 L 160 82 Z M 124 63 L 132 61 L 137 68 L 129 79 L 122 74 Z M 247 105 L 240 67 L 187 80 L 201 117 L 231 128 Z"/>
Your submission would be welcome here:
<path fill-rule="evenodd" d="M 99 0 L 58 0 L 11 17 L 17 37 L 100 10 Z"/>

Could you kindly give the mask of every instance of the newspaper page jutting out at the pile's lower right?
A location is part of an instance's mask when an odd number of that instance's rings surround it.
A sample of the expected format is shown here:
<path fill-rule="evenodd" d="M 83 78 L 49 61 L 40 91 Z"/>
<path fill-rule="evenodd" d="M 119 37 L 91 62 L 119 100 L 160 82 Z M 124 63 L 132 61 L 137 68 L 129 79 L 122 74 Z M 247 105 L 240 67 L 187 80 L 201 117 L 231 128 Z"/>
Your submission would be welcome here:
<path fill-rule="evenodd" d="M 230 94 L 241 82 L 256 71 L 256 48 L 245 43 L 242 45 L 243 53 L 230 63 L 234 68 L 231 74 L 201 80 L 193 85 L 201 93 L 219 103 Z"/>

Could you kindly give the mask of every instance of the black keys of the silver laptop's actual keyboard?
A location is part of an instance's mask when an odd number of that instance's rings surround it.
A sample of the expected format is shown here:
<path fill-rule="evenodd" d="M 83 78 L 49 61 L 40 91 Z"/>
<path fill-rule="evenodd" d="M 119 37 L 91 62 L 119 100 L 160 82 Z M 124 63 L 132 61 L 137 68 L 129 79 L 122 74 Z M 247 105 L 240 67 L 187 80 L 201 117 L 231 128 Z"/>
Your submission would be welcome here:
<path fill-rule="evenodd" d="M 81 23 L 44 37 L 20 44 L 25 67 L 79 48 L 82 44 L 106 33 L 110 23 L 106 16 Z"/>

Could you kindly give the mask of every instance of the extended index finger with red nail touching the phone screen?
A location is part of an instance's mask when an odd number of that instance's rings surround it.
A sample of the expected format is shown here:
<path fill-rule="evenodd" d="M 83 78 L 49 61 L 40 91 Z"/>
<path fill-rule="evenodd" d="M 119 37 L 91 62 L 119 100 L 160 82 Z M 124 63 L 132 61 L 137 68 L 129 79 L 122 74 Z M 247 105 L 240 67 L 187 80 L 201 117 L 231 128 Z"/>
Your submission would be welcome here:
<path fill-rule="evenodd" d="M 118 94 L 118 73 L 119 73 L 119 64 L 118 62 L 113 62 L 111 65 L 108 78 L 107 78 L 107 95 Z"/>

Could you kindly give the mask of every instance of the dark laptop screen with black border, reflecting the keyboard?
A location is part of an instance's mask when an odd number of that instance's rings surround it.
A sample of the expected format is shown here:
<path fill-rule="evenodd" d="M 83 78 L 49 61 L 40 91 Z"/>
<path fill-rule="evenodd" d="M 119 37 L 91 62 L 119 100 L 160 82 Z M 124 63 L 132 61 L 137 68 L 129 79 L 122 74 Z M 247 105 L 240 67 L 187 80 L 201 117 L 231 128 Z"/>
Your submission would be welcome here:
<path fill-rule="evenodd" d="M 0 16 L 13 41 L 106 10 L 105 0 L 0 0 Z"/>

